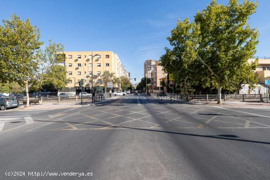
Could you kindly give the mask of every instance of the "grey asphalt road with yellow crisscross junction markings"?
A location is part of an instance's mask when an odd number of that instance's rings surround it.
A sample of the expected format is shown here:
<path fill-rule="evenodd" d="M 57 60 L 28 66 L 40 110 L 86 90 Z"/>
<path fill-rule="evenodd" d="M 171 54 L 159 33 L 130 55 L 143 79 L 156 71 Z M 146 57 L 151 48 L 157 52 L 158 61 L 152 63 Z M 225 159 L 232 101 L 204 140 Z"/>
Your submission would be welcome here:
<path fill-rule="evenodd" d="M 0 180 L 269 180 L 269 170 L 267 108 L 128 95 L 0 111 Z"/>

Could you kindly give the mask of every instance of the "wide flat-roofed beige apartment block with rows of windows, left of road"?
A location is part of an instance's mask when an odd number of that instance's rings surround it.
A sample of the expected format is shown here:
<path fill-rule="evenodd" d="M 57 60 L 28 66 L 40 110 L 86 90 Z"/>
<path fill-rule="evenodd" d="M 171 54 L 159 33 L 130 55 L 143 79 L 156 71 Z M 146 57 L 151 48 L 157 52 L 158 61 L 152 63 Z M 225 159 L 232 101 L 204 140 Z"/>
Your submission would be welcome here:
<path fill-rule="evenodd" d="M 128 77 L 130 73 L 125 70 L 120 58 L 113 51 L 65 51 L 65 61 L 60 64 L 66 67 L 69 82 L 64 92 L 76 92 L 81 89 L 79 82 L 85 79 L 84 87 L 89 90 L 93 86 L 107 86 L 100 84 L 99 76 L 104 71 L 115 73 L 116 77 Z M 93 71 L 92 71 L 93 69 Z M 115 90 L 121 89 L 121 84 L 114 84 Z"/>

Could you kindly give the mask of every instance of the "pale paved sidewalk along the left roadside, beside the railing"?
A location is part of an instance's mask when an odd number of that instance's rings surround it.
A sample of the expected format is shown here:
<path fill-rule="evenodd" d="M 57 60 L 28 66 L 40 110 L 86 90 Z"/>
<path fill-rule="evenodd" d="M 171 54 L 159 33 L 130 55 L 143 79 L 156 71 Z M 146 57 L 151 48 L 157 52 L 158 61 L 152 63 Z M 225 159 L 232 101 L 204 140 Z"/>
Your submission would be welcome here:
<path fill-rule="evenodd" d="M 100 104 L 100 103 L 108 103 L 111 101 L 114 101 L 115 99 L 118 99 L 121 96 L 113 96 L 111 98 L 99 101 L 99 102 L 94 102 L 95 104 Z M 29 110 L 44 110 L 44 109 L 64 109 L 64 108 L 74 108 L 74 107 L 81 107 L 81 106 L 89 106 L 91 104 L 91 102 L 83 102 L 81 105 L 81 102 L 79 103 L 43 103 L 43 104 L 30 104 L 29 107 L 24 107 L 24 105 L 19 106 L 16 109 L 20 109 L 20 110 L 25 110 L 25 109 L 29 109 Z"/>

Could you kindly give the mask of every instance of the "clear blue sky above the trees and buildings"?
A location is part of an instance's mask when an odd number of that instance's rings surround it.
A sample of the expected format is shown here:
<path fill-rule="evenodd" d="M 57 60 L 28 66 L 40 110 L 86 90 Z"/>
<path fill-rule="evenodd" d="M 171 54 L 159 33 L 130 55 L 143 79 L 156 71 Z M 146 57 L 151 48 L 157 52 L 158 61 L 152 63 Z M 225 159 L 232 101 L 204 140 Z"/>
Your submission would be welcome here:
<path fill-rule="evenodd" d="M 249 23 L 260 31 L 257 56 L 270 57 L 270 0 Z M 114 51 L 131 77 L 143 77 L 143 63 L 159 60 L 166 37 L 181 20 L 202 10 L 211 0 L 1 0 L 0 20 L 12 13 L 39 27 L 41 40 L 62 43 L 65 51 Z M 217 0 L 227 4 L 228 0 Z M 241 0 L 243 2 L 243 0 Z M 133 81 L 134 82 L 134 81 Z"/>

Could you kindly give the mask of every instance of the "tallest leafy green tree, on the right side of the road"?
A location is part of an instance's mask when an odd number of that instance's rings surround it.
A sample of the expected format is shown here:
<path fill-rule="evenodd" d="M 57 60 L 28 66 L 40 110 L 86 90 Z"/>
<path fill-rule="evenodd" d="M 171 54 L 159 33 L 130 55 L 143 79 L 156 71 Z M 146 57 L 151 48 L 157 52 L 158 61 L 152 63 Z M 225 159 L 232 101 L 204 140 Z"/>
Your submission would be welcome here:
<path fill-rule="evenodd" d="M 258 31 L 248 24 L 256 7 L 250 0 L 230 0 L 227 5 L 213 0 L 197 12 L 194 22 L 179 20 L 168 37 L 173 49 L 166 48 L 161 57 L 165 71 L 217 88 L 217 103 L 222 88 L 233 91 L 242 83 L 257 83 L 257 61 L 248 63 L 258 44 Z"/>

